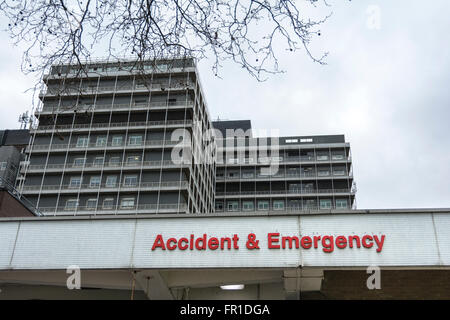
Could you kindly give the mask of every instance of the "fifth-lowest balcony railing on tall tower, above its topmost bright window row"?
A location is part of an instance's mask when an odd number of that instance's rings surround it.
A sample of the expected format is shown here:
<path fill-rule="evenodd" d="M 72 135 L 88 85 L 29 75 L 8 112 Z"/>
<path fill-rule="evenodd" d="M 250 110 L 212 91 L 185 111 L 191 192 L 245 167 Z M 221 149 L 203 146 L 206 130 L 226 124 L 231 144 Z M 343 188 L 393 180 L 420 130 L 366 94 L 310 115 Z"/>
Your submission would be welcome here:
<path fill-rule="evenodd" d="M 72 130 L 72 129 L 97 129 L 97 128 L 117 128 L 117 127 L 149 127 L 149 126 L 169 126 L 169 125 L 191 125 L 192 120 L 168 120 L 168 121 L 142 121 L 142 122 L 112 122 L 112 123 L 86 123 L 39 126 L 33 131 L 44 130 Z"/>

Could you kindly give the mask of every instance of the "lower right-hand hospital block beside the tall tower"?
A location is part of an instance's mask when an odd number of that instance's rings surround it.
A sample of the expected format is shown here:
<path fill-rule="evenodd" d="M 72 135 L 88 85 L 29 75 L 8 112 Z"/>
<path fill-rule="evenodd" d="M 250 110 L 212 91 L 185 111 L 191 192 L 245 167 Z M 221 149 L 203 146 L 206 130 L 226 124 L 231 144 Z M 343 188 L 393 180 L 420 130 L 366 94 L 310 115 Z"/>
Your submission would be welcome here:
<path fill-rule="evenodd" d="M 216 140 L 216 211 L 355 206 L 350 144 L 343 135 L 254 138 L 249 120 L 213 126 L 222 135 Z"/>

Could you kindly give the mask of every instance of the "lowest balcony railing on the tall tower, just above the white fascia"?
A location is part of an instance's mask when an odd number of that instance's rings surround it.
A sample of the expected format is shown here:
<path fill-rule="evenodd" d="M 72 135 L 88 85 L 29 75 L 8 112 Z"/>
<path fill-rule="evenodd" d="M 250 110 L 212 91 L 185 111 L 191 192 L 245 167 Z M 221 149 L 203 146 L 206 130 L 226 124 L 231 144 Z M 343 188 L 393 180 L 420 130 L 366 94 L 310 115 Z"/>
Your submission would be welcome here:
<path fill-rule="evenodd" d="M 140 204 L 134 206 L 123 207 L 119 205 L 113 205 L 103 207 L 101 204 L 97 207 L 89 206 L 77 206 L 66 208 L 60 207 L 41 207 L 39 210 L 48 215 L 54 213 L 58 215 L 76 215 L 76 214 L 138 214 L 138 213 L 186 213 L 187 205 L 185 203 L 180 204 Z"/>

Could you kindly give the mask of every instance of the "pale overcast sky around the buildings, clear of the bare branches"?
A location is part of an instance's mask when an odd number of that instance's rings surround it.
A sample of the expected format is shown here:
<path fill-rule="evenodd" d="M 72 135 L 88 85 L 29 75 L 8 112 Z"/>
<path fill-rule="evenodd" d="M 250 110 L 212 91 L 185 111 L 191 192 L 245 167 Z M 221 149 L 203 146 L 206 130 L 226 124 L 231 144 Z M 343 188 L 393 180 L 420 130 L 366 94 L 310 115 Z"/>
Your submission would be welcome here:
<path fill-rule="evenodd" d="M 212 118 L 281 136 L 345 134 L 359 209 L 450 208 L 450 2 L 328 2 L 323 13 L 333 13 L 311 44 L 329 52 L 326 65 L 281 50 L 286 72 L 258 82 L 231 63 L 219 79 L 201 61 Z M 14 129 L 36 78 L 21 73 L 6 32 L 0 41 L 0 128 Z"/>

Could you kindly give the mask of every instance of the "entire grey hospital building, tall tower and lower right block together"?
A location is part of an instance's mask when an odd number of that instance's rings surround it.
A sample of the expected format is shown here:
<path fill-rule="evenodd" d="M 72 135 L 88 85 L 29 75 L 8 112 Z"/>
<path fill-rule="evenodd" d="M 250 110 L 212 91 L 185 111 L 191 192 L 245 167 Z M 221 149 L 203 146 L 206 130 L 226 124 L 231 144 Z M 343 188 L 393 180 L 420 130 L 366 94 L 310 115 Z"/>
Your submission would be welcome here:
<path fill-rule="evenodd" d="M 211 122 L 192 59 L 54 66 L 44 80 L 19 189 L 46 215 L 355 207 L 343 135 Z"/>

